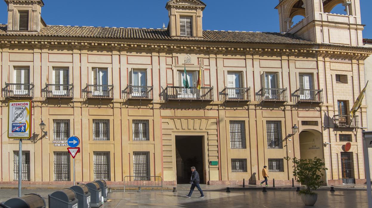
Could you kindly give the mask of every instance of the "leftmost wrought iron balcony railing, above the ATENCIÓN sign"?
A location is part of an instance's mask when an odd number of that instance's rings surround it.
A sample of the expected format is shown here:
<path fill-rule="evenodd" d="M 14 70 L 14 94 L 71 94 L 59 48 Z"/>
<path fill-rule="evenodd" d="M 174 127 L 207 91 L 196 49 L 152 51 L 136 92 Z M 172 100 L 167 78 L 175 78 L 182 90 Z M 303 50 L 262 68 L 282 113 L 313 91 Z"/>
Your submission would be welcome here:
<path fill-rule="evenodd" d="M 5 87 L 3 88 L 3 96 L 33 98 L 33 88 L 33 84 L 5 83 Z"/>

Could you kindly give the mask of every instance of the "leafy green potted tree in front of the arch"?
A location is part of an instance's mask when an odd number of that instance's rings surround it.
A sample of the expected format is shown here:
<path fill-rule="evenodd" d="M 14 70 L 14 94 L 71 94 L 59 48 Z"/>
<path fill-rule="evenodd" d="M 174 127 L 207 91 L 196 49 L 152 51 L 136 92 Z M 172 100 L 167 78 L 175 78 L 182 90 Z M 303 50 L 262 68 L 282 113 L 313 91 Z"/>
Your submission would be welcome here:
<path fill-rule="evenodd" d="M 324 162 L 317 157 L 314 159 L 284 157 L 284 159 L 292 160 L 294 164 L 293 176 L 295 176 L 298 183 L 305 185 L 305 189 L 300 190 L 298 195 L 301 196 L 305 205 L 314 206 L 315 202 L 317 202 L 318 194 L 313 191 L 323 184 L 321 177 L 324 174 L 321 170 L 327 170 L 327 168 L 324 168 Z"/>

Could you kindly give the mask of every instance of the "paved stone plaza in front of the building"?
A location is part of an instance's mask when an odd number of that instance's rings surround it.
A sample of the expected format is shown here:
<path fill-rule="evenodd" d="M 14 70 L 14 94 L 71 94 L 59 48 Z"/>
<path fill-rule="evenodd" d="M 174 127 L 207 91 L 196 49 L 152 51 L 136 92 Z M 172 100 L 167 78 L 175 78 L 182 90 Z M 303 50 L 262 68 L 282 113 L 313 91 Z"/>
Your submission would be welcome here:
<path fill-rule="evenodd" d="M 45 197 L 48 203 L 48 194 L 55 190 L 36 189 L 23 190 L 22 194 L 38 193 Z M 368 207 L 366 191 L 318 191 L 318 201 L 314 207 Z M 205 198 L 199 199 L 199 192 L 196 190 L 192 198 L 186 198 L 186 190 L 178 192 L 164 191 L 142 191 L 138 192 L 113 192 L 109 194 L 111 202 L 106 202 L 105 208 L 122 207 L 306 207 L 295 191 L 269 190 L 262 192 L 251 191 L 205 191 Z M 16 189 L 0 189 L 0 201 L 4 202 L 9 198 L 16 197 Z"/>

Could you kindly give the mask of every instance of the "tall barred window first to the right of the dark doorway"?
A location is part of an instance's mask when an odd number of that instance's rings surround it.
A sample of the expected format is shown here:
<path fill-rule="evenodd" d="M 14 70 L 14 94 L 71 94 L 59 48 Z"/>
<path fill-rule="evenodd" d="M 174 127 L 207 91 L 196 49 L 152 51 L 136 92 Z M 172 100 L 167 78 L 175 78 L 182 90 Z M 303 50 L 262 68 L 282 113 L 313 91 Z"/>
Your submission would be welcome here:
<path fill-rule="evenodd" d="M 230 121 L 230 147 L 231 149 L 246 148 L 246 132 L 244 121 Z"/>

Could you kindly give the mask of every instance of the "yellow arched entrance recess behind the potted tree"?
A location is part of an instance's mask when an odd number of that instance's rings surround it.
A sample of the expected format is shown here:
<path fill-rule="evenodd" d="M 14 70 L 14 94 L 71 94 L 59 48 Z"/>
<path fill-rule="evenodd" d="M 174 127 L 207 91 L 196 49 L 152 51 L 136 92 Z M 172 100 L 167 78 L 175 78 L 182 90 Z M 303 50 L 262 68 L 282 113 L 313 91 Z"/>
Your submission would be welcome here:
<path fill-rule="evenodd" d="M 324 162 L 323 139 L 319 131 L 311 129 L 301 131 L 299 134 L 299 144 L 301 159 L 314 159 L 314 157 L 317 157 Z M 322 181 L 325 182 L 325 171 L 322 170 L 322 172 Z"/>

